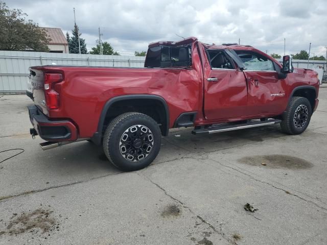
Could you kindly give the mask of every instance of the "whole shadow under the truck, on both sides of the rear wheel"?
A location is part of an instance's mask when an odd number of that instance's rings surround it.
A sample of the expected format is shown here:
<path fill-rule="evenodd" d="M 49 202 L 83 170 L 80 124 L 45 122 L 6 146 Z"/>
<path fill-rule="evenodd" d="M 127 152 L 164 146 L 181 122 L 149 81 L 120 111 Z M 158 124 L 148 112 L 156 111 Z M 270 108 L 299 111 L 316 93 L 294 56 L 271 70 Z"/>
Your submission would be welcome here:
<path fill-rule="evenodd" d="M 244 129 L 211 135 L 192 135 L 192 129 L 173 129 L 162 137 L 161 150 L 153 164 L 201 155 L 237 146 L 287 137 L 278 126 Z M 49 171 L 58 175 L 110 175 L 120 173 L 102 151 L 102 146 L 81 141 L 42 152 Z M 65 170 L 63 170 L 65 169 Z"/>

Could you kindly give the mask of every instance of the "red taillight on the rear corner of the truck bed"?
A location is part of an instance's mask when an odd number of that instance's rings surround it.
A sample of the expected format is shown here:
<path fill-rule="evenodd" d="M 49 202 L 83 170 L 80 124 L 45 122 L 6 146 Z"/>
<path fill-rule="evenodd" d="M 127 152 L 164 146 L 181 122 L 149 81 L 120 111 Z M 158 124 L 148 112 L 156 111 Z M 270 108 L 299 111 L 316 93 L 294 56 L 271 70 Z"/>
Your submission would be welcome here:
<path fill-rule="evenodd" d="M 59 108 L 59 93 L 56 91 L 55 84 L 62 81 L 61 74 L 44 74 L 44 95 L 48 109 Z"/>

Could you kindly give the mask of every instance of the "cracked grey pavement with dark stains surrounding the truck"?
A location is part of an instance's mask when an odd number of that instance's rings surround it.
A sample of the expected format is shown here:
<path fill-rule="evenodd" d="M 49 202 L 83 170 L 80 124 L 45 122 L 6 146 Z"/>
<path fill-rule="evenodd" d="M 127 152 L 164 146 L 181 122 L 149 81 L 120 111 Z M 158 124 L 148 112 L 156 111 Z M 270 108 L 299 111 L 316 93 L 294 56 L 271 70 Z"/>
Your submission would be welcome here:
<path fill-rule="evenodd" d="M 319 100 L 301 135 L 174 129 L 122 173 L 87 141 L 42 151 L 32 101 L 0 95 L 0 152 L 24 150 L 0 153 L 0 244 L 326 244 L 327 88 Z"/>

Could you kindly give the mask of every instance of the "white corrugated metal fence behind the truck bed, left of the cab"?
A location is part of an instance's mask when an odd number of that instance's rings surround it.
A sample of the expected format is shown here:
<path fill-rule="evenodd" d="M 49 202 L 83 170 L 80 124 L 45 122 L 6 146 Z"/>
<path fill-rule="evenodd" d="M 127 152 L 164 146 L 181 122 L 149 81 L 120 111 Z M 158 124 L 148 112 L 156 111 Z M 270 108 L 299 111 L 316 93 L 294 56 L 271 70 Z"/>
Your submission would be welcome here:
<path fill-rule="evenodd" d="M 25 92 L 29 67 L 35 65 L 88 65 L 143 67 L 145 57 L 79 55 L 41 52 L 0 51 L 0 93 Z"/>

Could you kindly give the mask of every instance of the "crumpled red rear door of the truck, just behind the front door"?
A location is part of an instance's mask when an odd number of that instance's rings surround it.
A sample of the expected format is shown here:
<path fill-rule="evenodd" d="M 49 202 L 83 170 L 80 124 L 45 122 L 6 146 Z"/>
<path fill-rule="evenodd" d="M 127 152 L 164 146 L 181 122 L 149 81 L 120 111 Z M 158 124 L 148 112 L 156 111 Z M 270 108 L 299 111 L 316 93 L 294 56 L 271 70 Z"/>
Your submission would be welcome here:
<path fill-rule="evenodd" d="M 244 74 L 224 50 L 206 50 L 204 114 L 207 120 L 246 115 L 247 88 Z"/>

